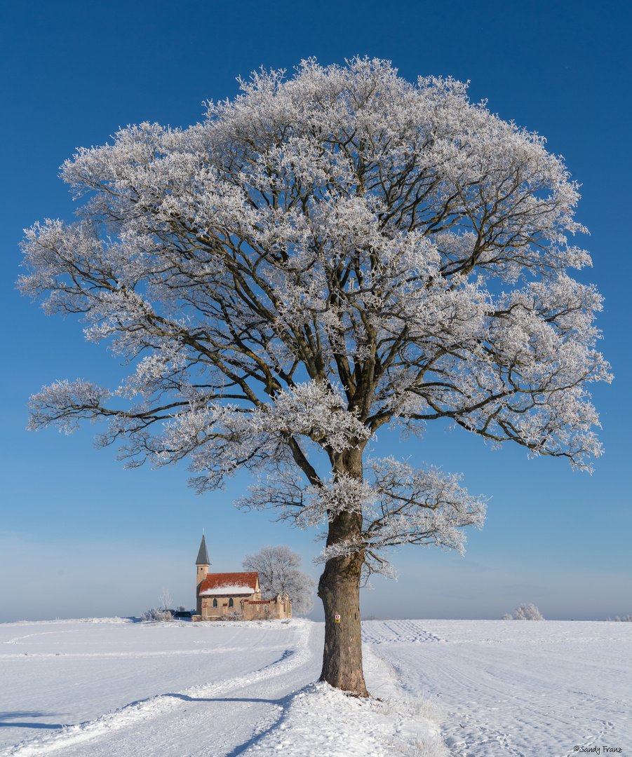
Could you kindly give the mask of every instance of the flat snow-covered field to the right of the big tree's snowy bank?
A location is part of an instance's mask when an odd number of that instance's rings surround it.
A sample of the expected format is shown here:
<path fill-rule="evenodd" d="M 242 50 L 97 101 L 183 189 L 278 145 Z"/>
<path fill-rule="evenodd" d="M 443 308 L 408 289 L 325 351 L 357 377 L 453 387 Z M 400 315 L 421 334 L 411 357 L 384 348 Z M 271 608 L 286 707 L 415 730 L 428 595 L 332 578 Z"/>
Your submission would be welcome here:
<path fill-rule="evenodd" d="M 632 754 L 632 624 L 368 621 L 405 691 L 432 692 L 455 757 Z"/>

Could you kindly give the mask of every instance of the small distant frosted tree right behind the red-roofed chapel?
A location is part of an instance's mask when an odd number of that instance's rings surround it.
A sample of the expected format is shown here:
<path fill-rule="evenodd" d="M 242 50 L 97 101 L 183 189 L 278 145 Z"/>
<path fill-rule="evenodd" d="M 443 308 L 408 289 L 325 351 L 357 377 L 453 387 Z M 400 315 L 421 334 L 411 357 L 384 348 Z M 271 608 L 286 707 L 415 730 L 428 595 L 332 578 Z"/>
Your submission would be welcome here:
<path fill-rule="evenodd" d="M 314 607 L 316 583 L 311 576 L 299 570 L 302 559 L 284 545 L 261 547 L 255 555 L 246 555 L 242 568 L 257 571 L 262 597 L 287 593 L 292 600 L 293 615 L 308 615 Z"/>

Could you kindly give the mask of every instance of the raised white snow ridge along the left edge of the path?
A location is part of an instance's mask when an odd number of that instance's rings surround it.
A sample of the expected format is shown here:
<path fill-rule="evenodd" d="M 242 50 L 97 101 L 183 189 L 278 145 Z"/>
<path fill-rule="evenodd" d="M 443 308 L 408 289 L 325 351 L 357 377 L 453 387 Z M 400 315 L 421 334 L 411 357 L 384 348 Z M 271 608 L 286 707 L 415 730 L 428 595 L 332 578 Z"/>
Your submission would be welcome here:
<path fill-rule="evenodd" d="M 296 671 L 302 665 L 306 665 L 313 657 L 313 650 L 309 643 L 312 628 L 313 624 L 309 623 L 294 625 L 293 630 L 296 629 L 296 636 L 293 639 L 292 646 L 286 649 L 276 662 L 252 671 L 252 673 L 227 678 L 213 684 L 202 684 L 180 692 L 157 694 L 139 702 L 131 702 L 124 708 L 102 715 L 93 721 L 67 726 L 52 736 L 12 746 L 2 752 L 2 757 L 36 757 L 36 755 L 46 755 L 60 749 L 79 746 L 90 740 L 107 737 L 108 734 L 140 725 L 149 719 L 167 715 L 178 708 L 183 708 L 186 702 L 217 698 L 217 696 L 230 693 L 234 689 L 240 690 L 252 686 L 252 684 L 269 681 L 271 678 L 285 676 Z M 279 712 L 278 717 L 280 715 L 281 712 Z"/>

